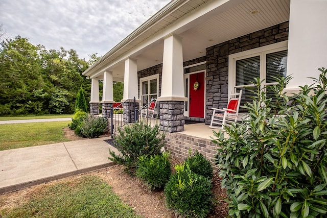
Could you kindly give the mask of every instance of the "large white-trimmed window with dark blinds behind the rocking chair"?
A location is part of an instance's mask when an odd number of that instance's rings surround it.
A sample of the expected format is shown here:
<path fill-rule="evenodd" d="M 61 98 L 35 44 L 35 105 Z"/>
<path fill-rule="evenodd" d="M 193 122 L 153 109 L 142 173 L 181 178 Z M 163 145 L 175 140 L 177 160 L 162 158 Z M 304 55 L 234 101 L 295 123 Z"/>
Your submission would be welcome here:
<path fill-rule="evenodd" d="M 251 93 L 244 87 L 254 86 L 253 78 L 264 80 L 261 88 L 276 84 L 273 77 L 286 77 L 287 68 L 287 41 L 259 47 L 229 56 L 229 90 L 239 92 L 243 90 L 241 106 L 251 102 Z M 266 89 L 267 94 L 271 94 Z M 247 110 L 240 108 L 240 113 Z"/>

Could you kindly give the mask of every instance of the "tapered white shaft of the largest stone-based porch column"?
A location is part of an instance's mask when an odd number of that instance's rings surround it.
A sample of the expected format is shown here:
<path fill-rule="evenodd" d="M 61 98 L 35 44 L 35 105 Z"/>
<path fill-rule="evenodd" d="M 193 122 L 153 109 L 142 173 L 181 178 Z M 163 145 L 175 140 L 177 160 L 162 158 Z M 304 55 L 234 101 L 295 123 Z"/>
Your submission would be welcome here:
<path fill-rule="evenodd" d="M 184 97 L 182 39 L 171 35 L 164 42 L 161 96 L 158 101 L 187 101 Z"/>

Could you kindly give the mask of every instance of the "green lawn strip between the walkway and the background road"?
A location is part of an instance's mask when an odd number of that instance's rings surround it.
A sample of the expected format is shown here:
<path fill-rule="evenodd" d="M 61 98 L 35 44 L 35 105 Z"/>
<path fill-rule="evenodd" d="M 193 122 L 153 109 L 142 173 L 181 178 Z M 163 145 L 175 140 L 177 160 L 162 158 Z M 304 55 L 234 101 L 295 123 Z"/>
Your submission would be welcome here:
<path fill-rule="evenodd" d="M 62 130 L 69 123 L 71 122 L 2 124 L 0 151 L 69 141 Z"/>

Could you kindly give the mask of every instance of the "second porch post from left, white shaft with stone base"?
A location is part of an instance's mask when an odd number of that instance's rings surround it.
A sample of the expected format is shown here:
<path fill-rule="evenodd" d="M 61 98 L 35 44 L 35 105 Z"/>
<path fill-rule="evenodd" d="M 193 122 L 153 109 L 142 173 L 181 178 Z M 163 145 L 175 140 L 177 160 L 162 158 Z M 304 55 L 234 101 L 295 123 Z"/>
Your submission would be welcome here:
<path fill-rule="evenodd" d="M 103 92 L 101 101 L 103 117 L 110 117 L 110 107 L 113 102 L 112 71 L 105 71 L 103 73 Z"/>

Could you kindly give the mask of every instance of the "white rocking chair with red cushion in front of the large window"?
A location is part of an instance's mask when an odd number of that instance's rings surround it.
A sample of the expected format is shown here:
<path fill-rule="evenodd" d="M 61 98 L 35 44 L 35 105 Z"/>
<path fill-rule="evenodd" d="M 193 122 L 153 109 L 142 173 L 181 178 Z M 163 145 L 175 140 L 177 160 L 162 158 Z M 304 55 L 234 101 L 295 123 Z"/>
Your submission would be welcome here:
<path fill-rule="evenodd" d="M 212 108 L 213 116 L 211 118 L 210 128 L 219 129 L 218 126 L 221 126 L 221 129 L 224 129 L 224 125 L 227 123 L 237 122 L 239 115 L 239 108 L 241 103 L 242 89 L 240 92 L 230 94 L 230 99 L 228 100 L 227 108 L 218 109 Z"/>

